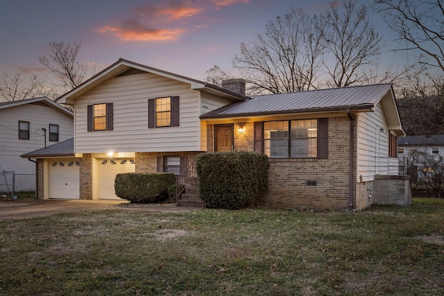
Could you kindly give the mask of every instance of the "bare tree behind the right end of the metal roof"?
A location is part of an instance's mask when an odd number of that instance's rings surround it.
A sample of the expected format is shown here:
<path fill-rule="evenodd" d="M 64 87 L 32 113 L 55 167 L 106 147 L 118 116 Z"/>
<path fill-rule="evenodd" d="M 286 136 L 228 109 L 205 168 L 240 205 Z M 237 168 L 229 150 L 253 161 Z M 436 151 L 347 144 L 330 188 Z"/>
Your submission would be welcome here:
<path fill-rule="evenodd" d="M 344 0 L 343 6 L 332 2 L 324 17 L 327 20 L 327 53 L 334 60 L 332 64 L 325 63 L 326 72 L 332 78 L 329 84 L 345 87 L 367 81 L 366 68 L 376 64 L 381 41 L 375 27 L 370 24 L 368 8 L 357 8 L 353 0 Z"/>

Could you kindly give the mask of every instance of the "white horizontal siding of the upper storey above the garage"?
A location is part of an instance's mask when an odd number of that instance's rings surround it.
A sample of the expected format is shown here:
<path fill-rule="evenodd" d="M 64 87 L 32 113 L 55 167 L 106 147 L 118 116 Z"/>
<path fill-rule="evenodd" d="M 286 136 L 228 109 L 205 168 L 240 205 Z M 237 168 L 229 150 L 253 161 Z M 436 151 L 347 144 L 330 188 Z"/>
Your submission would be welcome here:
<path fill-rule="evenodd" d="M 179 96 L 180 126 L 148 128 L 148 98 Z M 87 105 L 114 103 L 114 130 L 87 132 Z M 76 100 L 76 153 L 200 150 L 200 92 L 152 73 L 112 78 Z"/>

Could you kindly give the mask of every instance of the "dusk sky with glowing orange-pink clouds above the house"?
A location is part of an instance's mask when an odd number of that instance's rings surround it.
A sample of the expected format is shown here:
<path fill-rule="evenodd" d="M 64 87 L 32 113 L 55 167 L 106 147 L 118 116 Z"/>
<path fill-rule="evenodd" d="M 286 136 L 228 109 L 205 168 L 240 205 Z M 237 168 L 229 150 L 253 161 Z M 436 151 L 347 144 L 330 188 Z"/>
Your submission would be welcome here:
<path fill-rule="evenodd" d="M 358 3 L 368 1 L 359 0 Z M 45 76 L 38 57 L 53 41 L 81 42 L 80 62 L 125 58 L 199 80 L 223 69 L 239 44 L 290 7 L 326 10 L 327 0 L 0 0 L 0 74 Z M 381 34 L 383 21 L 374 17 Z M 384 36 L 388 43 L 389 36 Z M 388 51 L 388 47 L 385 48 Z"/>

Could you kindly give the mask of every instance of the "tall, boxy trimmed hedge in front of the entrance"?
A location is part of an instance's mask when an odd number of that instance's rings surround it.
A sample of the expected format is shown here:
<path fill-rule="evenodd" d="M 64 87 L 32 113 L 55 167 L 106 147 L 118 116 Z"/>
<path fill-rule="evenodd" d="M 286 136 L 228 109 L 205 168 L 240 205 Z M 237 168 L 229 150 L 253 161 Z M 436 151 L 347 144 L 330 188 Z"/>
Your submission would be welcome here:
<path fill-rule="evenodd" d="M 265 194 L 269 166 L 258 153 L 202 153 L 196 162 L 200 199 L 210 208 L 247 207 Z"/>

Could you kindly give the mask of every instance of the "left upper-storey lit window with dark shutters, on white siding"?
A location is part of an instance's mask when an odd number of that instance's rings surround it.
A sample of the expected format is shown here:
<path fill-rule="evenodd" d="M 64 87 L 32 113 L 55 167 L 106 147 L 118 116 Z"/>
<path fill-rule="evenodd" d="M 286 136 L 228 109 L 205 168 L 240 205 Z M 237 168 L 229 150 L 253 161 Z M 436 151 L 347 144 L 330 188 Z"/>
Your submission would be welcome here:
<path fill-rule="evenodd" d="M 113 104 L 102 103 L 87 106 L 87 130 L 113 130 Z"/>

